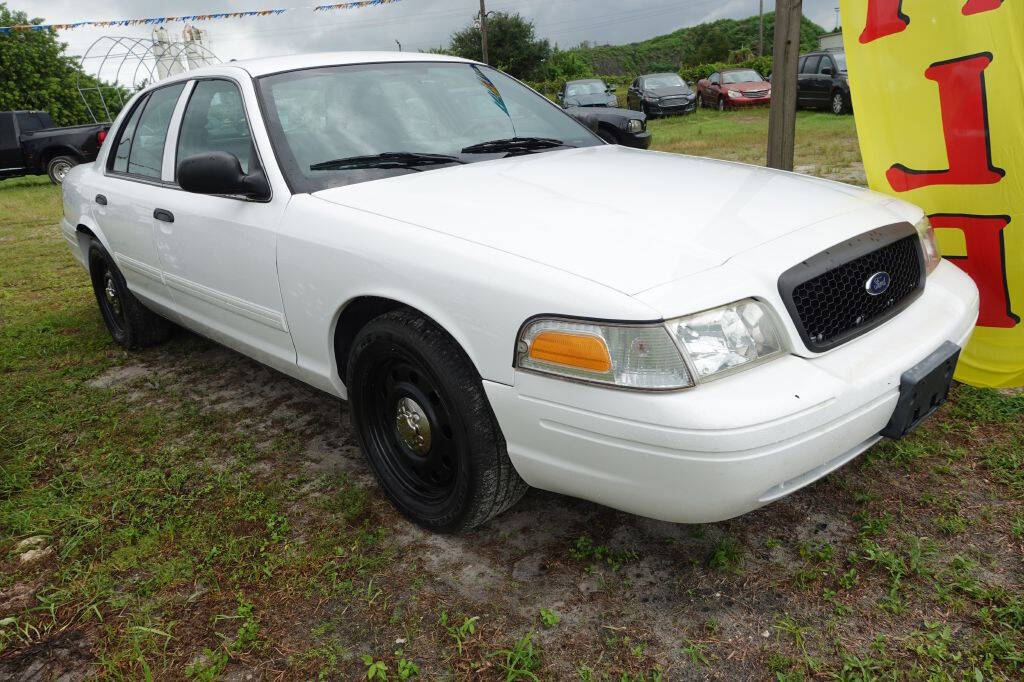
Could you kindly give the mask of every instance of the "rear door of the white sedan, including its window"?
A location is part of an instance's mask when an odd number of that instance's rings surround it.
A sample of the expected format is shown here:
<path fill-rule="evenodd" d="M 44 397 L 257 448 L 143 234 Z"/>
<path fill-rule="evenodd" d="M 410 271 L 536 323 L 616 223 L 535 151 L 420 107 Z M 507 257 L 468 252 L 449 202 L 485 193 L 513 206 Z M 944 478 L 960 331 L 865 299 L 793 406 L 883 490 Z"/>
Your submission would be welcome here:
<path fill-rule="evenodd" d="M 103 182 L 87 197 L 128 288 L 164 314 L 173 304 L 154 243 L 153 208 L 164 184 L 167 130 L 183 90 L 184 83 L 158 88 L 133 105 L 108 154 Z"/>

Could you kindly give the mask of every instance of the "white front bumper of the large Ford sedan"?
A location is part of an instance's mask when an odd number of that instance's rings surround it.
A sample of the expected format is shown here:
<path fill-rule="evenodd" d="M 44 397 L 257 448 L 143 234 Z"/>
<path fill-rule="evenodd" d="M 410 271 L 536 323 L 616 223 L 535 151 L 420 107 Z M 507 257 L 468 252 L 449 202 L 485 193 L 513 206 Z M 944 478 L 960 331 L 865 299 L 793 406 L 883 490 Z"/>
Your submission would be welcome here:
<path fill-rule="evenodd" d="M 530 485 L 667 521 L 718 521 L 878 442 L 900 375 L 945 341 L 966 344 L 977 312 L 974 283 L 943 263 L 906 310 L 816 357 L 788 355 L 668 393 L 522 372 L 514 386 L 484 388 Z"/>

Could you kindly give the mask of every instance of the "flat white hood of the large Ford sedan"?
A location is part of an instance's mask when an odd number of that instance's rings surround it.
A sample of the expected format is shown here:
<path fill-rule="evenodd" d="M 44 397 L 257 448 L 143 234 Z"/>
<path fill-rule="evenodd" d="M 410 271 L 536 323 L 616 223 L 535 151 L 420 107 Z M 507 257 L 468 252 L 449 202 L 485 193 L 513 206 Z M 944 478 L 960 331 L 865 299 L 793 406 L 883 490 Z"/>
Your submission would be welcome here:
<path fill-rule="evenodd" d="M 611 144 L 409 173 L 313 196 L 631 295 L 887 201 L 795 173 Z"/>

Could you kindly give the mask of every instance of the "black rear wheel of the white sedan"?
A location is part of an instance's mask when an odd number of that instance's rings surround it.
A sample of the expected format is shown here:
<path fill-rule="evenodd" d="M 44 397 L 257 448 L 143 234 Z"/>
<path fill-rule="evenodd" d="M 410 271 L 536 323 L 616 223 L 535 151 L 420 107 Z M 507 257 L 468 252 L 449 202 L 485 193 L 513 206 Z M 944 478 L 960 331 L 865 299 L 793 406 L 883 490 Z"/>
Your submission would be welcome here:
<path fill-rule="evenodd" d="M 95 239 L 89 243 L 89 278 L 99 313 L 118 345 L 134 350 L 170 338 L 173 325 L 135 298 L 114 259 Z"/>

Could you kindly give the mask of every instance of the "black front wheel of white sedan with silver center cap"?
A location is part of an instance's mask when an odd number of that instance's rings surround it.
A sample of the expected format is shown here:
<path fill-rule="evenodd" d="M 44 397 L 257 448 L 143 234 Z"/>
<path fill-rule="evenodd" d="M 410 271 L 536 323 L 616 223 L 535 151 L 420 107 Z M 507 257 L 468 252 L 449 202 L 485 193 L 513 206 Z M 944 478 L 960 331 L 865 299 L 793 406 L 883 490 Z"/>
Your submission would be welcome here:
<path fill-rule="evenodd" d="M 414 523 L 461 532 L 526 493 L 480 376 L 434 323 L 407 308 L 368 323 L 352 342 L 346 384 L 359 446 Z"/>

